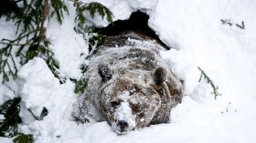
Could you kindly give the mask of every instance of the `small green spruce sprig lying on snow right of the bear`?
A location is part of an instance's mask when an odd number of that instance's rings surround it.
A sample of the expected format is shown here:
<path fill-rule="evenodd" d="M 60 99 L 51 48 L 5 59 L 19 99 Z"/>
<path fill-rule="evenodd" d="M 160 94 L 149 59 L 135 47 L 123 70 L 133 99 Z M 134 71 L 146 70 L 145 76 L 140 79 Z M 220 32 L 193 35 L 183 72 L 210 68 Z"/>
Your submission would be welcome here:
<path fill-rule="evenodd" d="M 221 96 L 221 94 L 219 94 L 219 91 L 218 91 L 219 87 L 214 85 L 213 81 L 208 77 L 208 75 L 205 73 L 204 70 L 202 70 L 199 66 L 197 68 L 201 72 L 198 82 L 200 82 L 202 80 L 202 77 L 204 77 L 207 80 L 210 87 L 212 87 L 212 90 L 213 90 L 212 94 L 214 95 L 214 98 L 216 100 L 218 96 Z"/>

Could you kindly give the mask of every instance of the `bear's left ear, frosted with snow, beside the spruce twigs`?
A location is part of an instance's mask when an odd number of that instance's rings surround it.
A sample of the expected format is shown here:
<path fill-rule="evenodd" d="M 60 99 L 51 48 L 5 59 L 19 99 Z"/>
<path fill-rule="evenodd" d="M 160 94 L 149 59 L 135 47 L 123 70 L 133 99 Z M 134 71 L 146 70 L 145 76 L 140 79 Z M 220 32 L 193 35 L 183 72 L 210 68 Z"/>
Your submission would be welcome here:
<path fill-rule="evenodd" d="M 107 82 L 112 78 L 112 66 L 107 63 L 101 63 L 98 66 L 99 74 L 102 77 L 102 82 Z"/>

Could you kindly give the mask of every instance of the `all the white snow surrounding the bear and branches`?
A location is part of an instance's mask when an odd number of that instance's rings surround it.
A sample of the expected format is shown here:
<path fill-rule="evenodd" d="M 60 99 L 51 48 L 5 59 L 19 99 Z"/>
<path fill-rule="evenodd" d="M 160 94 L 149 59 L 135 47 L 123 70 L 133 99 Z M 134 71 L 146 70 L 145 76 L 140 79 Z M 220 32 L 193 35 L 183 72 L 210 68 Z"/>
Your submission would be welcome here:
<path fill-rule="evenodd" d="M 22 98 L 21 132 L 33 133 L 36 142 L 69 143 L 253 143 L 256 140 L 256 1 L 254 0 L 98 0 L 108 6 L 114 20 L 127 19 L 140 10 L 150 16 L 148 25 L 170 47 L 161 53 L 178 77 L 185 81 L 186 97 L 171 112 L 171 123 L 154 125 L 118 136 L 106 122 L 77 125 L 70 120 L 77 95 L 74 84 L 63 85 L 51 74 L 46 63 L 35 58 L 22 66 L 18 83 L 0 85 L 0 104 Z M 68 2 L 71 7 L 71 2 Z M 81 76 L 81 53 L 87 54 L 82 36 L 73 31 L 74 12 L 59 26 L 48 23 L 48 37 L 59 60 L 63 77 Z M 233 26 L 222 25 L 230 19 Z M 241 25 L 244 21 L 245 29 Z M 95 26 L 107 26 L 101 16 L 91 19 Z M 139 23 L 139 21 L 138 21 Z M 13 37 L 13 24 L 0 20 L 0 38 Z M 201 67 L 219 87 L 214 99 L 205 80 L 197 82 Z M 0 77 L 1 78 L 1 77 Z M 34 120 L 24 108 L 40 116 L 43 107 L 48 116 Z M 8 142 L 0 138 L 0 142 Z"/>

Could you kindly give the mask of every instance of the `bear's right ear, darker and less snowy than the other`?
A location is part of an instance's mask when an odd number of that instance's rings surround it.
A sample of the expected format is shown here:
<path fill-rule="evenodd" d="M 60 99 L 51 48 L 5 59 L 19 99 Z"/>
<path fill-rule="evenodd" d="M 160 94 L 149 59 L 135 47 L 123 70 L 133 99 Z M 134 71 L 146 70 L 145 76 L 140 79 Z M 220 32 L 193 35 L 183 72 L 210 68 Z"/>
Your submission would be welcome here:
<path fill-rule="evenodd" d="M 156 86 L 162 86 L 163 82 L 167 79 L 167 72 L 163 67 L 155 69 L 154 81 Z"/>

